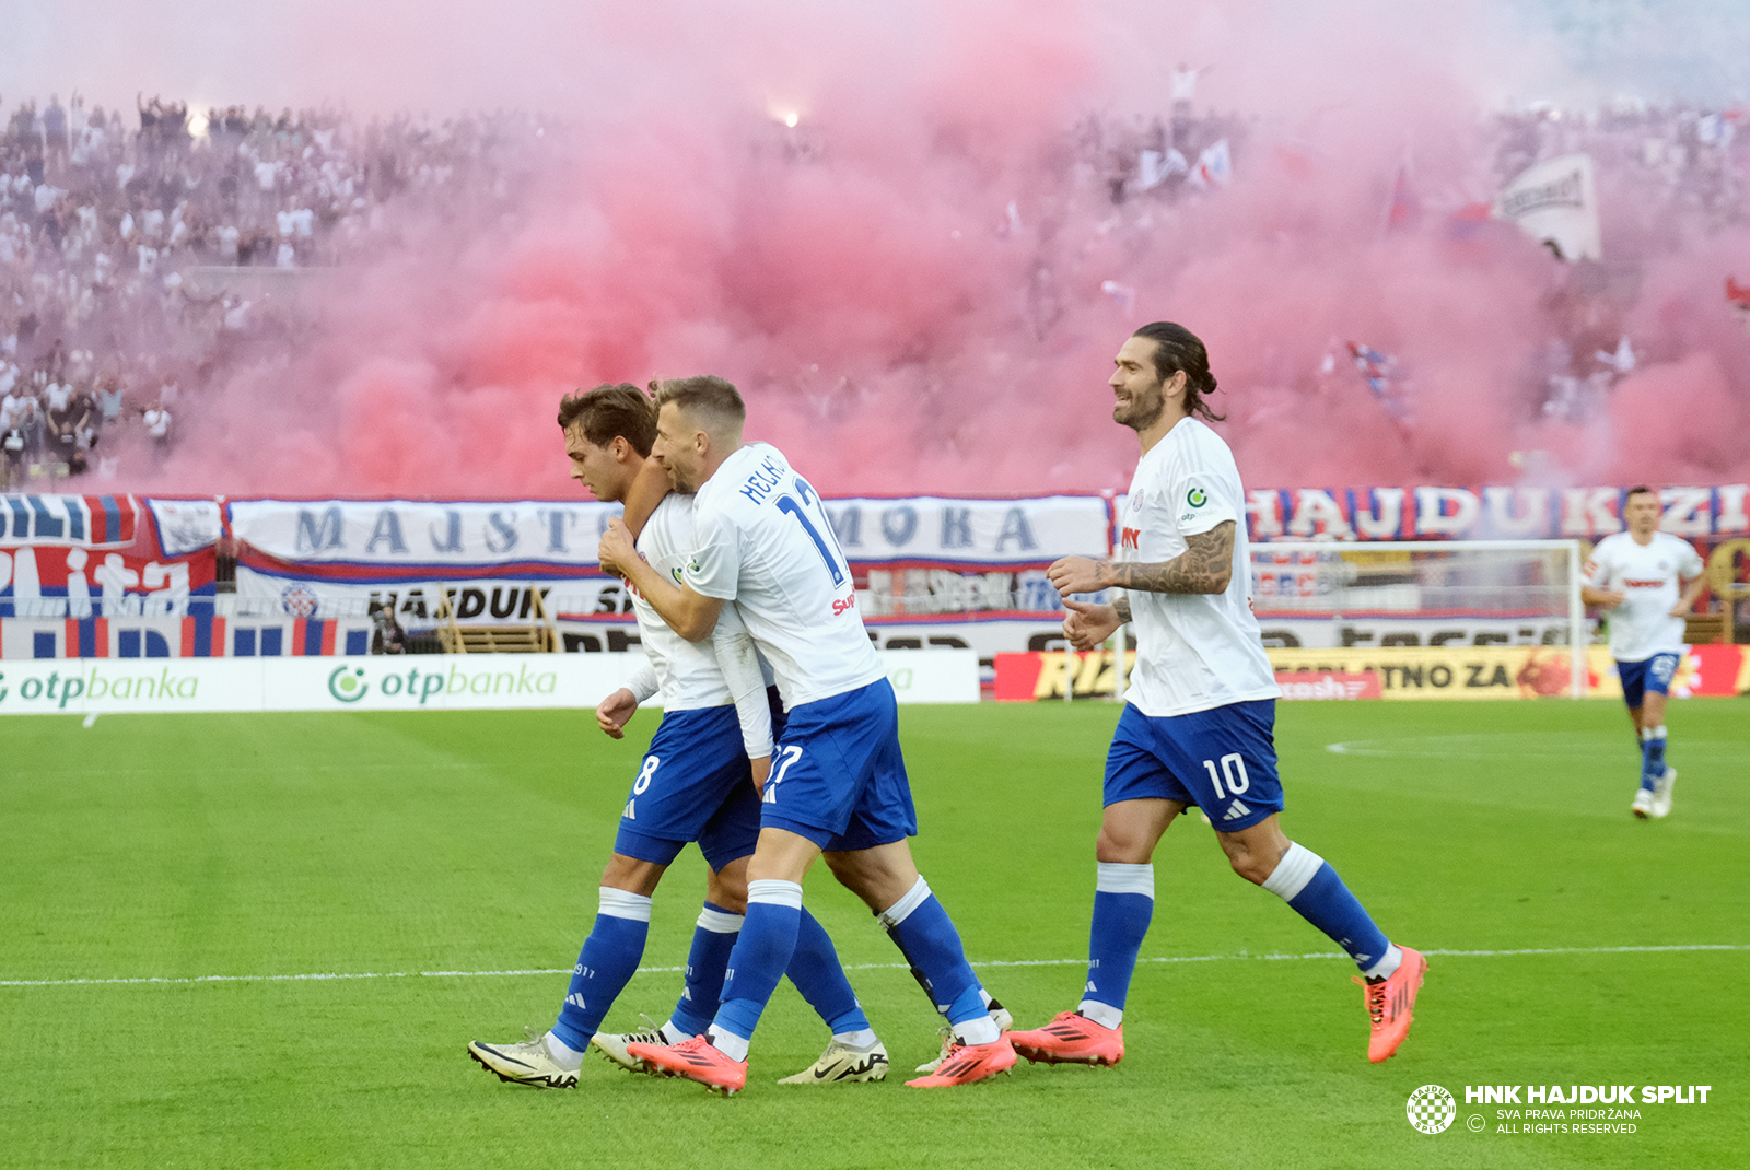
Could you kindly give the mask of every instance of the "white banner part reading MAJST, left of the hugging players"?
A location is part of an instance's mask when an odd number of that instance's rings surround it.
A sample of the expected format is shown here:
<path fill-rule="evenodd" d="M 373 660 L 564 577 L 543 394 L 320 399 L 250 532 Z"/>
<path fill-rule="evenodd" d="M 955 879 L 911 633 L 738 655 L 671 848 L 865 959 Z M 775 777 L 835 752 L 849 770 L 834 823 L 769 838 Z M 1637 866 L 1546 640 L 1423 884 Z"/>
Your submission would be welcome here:
<path fill-rule="evenodd" d="M 516 500 L 233 500 L 231 533 L 243 558 L 282 575 L 415 581 L 420 577 L 550 577 L 597 565 L 597 540 L 618 504 Z"/>

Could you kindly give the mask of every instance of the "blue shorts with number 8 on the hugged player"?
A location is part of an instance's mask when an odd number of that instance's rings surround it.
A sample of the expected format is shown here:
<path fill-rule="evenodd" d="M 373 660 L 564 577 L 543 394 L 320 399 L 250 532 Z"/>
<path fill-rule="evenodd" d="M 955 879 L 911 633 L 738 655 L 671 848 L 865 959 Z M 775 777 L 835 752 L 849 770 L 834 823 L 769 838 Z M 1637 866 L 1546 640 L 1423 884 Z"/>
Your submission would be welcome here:
<path fill-rule="evenodd" d="M 777 689 L 766 694 L 775 738 L 784 712 Z M 712 869 L 749 857 L 760 841 L 760 796 L 733 703 L 663 714 L 620 815 L 614 852 L 668 866 L 688 841 L 698 841 Z"/>

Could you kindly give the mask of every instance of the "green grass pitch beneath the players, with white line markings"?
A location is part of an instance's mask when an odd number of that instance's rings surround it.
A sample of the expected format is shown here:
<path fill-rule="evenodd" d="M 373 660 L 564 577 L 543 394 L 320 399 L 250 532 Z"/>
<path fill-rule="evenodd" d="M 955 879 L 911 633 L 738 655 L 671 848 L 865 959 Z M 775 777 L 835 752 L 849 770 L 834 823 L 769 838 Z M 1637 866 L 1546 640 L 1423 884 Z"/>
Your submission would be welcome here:
<path fill-rule="evenodd" d="M 1022 1027 L 1078 1000 L 1116 715 L 901 712 L 919 864 Z M 588 712 L 0 722 L 0 1165 L 1745 1165 L 1750 700 L 1673 705 L 1662 822 L 1629 817 L 1617 705 L 1283 705 L 1290 836 L 1432 951 L 1384 1065 L 1353 967 L 1192 815 L 1155 857 L 1116 1069 L 903 1088 L 936 1020 L 817 867 L 808 906 L 892 1051 L 886 1084 L 774 1084 L 826 1039 L 788 985 L 732 1100 L 593 1058 L 578 1090 L 500 1084 L 464 1046 L 550 1025 L 565 976 L 486 972 L 570 967 L 654 724 L 614 743 Z M 667 1014 L 702 890 L 688 852 L 607 1027 Z M 261 978 L 312 974 L 374 978 Z M 1460 1098 L 1438 1135 L 1405 1119 L 1430 1083 Z M 1498 1107 L 1463 1104 L 1575 1083 L 1712 1090 L 1610 1135 L 1500 1133 Z"/>

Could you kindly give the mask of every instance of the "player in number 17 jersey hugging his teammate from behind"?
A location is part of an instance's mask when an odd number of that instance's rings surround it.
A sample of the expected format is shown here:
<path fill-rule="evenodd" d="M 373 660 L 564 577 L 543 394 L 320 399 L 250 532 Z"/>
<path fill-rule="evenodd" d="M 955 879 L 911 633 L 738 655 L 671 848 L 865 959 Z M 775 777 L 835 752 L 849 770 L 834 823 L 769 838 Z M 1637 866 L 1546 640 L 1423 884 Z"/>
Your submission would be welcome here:
<path fill-rule="evenodd" d="M 730 955 L 723 1006 L 707 1035 L 628 1051 L 730 1095 L 747 1081 L 747 1048 L 789 962 L 802 878 L 822 855 L 833 876 L 877 913 L 922 972 L 957 1046 L 919 1088 L 970 1084 L 1015 1063 L 959 932 L 919 876 L 917 832 L 900 752 L 898 708 L 856 612 L 850 567 L 821 498 L 765 442 L 742 442 L 746 406 L 721 378 L 682 378 L 656 393 L 653 456 L 679 491 L 696 491 L 696 542 L 679 584 L 637 560 L 611 525 L 612 565 L 686 638 L 705 638 L 733 602 L 772 663 L 788 721 L 760 804 L 747 864 L 747 922 Z"/>

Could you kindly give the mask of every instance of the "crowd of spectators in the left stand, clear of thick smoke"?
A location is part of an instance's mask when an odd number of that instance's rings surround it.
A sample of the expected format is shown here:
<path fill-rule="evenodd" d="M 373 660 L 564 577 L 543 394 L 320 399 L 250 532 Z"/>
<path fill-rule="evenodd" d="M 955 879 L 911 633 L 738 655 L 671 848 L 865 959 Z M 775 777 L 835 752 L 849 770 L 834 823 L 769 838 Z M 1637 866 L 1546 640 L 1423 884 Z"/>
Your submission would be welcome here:
<path fill-rule="evenodd" d="M 522 114 L 0 101 L 0 486 L 161 456 L 245 355 L 308 327 L 287 269 L 369 261 L 424 212 L 502 210 L 542 133 Z"/>

